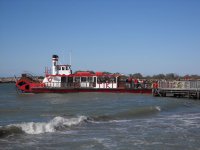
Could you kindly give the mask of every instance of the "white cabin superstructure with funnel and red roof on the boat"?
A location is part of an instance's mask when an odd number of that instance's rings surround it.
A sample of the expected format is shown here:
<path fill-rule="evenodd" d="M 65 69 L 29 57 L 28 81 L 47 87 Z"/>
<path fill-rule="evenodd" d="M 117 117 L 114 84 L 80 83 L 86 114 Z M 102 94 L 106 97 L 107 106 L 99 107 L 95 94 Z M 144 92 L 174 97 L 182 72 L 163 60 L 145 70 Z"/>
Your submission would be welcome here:
<path fill-rule="evenodd" d="M 70 88 L 94 88 L 116 89 L 118 88 L 119 75 L 109 75 L 102 72 L 76 72 L 72 74 L 71 65 L 59 65 L 59 57 L 52 56 L 52 72 L 46 71 L 43 83 L 46 87 L 70 87 Z"/>

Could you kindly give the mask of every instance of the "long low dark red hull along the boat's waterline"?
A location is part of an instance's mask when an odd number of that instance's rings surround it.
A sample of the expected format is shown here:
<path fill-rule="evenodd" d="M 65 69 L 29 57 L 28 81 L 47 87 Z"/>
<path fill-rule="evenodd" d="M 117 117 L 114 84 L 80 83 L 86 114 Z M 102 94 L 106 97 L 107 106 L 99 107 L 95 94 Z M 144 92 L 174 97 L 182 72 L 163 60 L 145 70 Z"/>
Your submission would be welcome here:
<path fill-rule="evenodd" d="M 104 93 L 138 93 L 151 94 L 151 89 L 92 89 L 92 88 L 32 88 L 32 93 L 76 93 L 76 92 L 104 92 Z"/>

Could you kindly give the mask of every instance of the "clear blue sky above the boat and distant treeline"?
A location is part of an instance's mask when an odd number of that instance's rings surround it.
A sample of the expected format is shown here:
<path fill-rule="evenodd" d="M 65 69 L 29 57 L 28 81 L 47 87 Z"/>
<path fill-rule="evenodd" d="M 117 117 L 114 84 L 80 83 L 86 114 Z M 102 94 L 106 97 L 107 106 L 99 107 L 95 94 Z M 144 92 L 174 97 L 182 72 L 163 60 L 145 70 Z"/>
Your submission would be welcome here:
<path fill-rule="evenodd" d="M 0 0 L 0 77 L 72 68 L 200 74 L 200 0 Z"/>

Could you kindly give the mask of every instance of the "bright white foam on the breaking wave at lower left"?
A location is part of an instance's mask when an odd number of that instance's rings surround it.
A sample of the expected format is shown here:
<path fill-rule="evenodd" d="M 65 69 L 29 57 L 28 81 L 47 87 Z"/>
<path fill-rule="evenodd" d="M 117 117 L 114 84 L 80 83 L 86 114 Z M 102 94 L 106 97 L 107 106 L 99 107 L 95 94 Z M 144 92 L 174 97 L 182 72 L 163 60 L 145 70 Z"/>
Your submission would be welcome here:
<path fill-rule="evenodd" d="M 16 126 L 21 128 L 27 134 L 41 134 L 45 132 L 55 132 L 56 128 L 59 127 L 71 127 L 73 125 L 78 125 L 82 121 L 86 120 L 87 117 L 79 116 L 77 118 L 63 118 L 55 117 L 49 122 L 28 122 L 21 124 L 12 124 L 9 126 Z"/>

